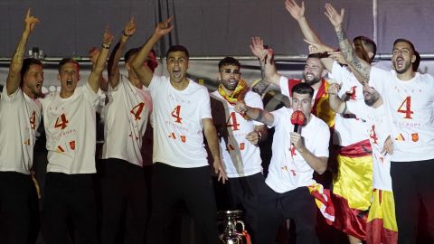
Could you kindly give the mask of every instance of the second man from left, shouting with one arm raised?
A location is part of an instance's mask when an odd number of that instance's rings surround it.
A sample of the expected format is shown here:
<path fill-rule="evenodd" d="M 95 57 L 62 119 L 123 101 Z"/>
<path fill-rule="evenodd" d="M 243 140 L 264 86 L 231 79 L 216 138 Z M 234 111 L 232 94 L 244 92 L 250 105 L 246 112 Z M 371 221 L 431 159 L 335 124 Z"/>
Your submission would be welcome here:
<path fill-rule="evenodd" d="M 71 218 L 80 242 L 97 243 L 97 214 L 93 175 L 95 168 L 96 119 L 99 80 L 113 37 L 104 33 L 102 50 L 88 82 L 77 87 L 80 67 L 65 58 L 59 63 L 61 91 L 42 101 L 47 136 L 48 165 L 43 216 L 46 240 L 65 243 L 66 222 Z"/>

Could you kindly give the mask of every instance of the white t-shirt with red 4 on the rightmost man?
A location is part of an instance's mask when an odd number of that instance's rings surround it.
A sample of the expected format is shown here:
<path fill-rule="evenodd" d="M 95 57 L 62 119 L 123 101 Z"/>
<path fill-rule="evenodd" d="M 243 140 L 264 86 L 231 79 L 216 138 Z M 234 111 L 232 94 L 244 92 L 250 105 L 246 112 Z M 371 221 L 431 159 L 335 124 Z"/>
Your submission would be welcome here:
<path fill-rule="evenodd" d="M 370 85 L 387 102 L 391 115 L 392 161 L 410 162 L 434 158 L 434 78 L 416 73 L 399 80 L 395 70 L 372 67 Z"/>

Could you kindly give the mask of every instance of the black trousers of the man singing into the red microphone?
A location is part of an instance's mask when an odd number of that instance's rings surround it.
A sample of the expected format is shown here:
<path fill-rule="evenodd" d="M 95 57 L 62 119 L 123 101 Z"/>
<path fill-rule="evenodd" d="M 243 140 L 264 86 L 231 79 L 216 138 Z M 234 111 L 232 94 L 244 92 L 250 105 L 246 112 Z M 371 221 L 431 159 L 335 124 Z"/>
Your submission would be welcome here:
<path fill-rule="evenodd" d="M 319 243 L 316 235 L 316 205 L 307 187 L 278 193 L 265 184 L 259 189 L 257 211 L 259 231 L 256 233 L 256 244 L 274 243 L 278 225 L 288 219 L 295 222 L 297 243 Z"/>

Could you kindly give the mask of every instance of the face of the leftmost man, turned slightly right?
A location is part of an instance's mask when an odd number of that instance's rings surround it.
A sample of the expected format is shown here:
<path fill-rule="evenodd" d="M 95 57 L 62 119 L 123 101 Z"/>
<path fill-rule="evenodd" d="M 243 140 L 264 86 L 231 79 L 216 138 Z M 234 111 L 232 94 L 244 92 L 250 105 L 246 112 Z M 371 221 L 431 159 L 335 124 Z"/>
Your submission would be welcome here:
<path fill-rule="evenodd" d="M 43 70 L 42 65 L 31 64 L 24 73 L 23 91 L 27 96 L 34 98 L 42 94 Z"/>

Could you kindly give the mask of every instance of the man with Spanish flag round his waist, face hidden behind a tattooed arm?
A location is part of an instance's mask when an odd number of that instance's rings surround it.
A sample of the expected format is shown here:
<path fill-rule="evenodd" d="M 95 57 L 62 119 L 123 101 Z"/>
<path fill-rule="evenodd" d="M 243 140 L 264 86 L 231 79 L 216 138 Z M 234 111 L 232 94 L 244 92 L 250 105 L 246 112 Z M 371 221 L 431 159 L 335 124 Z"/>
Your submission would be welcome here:
<path fill-rule="evenodd" d="M 286 0 L 285 6 L 291 16 L 297 20 L 306 42 L 321 42 L 305 16 L 305 4 L 297 5 L 295 0 Z M 376 52 L 375 42 L 364 36 L 353 40 L 357 56 L 372 62 Z M 326 47 L 325 45 L 321 45 Z M 318 45 L 316 45 L 318 47 Z M 348 104 L 363 103 L 363 87 L 357 79 L 362 79 L 358 72 L 344 68 L 344 58 L 339 52 L 326 47 L 320 52 L 321 62 L 328 70 L 329 78 L 342 84 L 339 97 Z M 310 50 L 312 52 L 312 50 Z M 328 55 L 328 52 L 332 54 Z M 333 57 L 333 59 L 332 59 Z M 341 63 L 338 63 L 341 62 Z M 368 140 L 366 123 L 353 114 L 336 114 L 333 143 L 335 146 L 333 162 L 337 163 L 333 179 L 333 202 L 335 205 L 334 226 L 344 231 L 350 243 L 360 243 L 365 239 L 366 214 L 371 205 L 373 186 L 372 149 Z"/>

